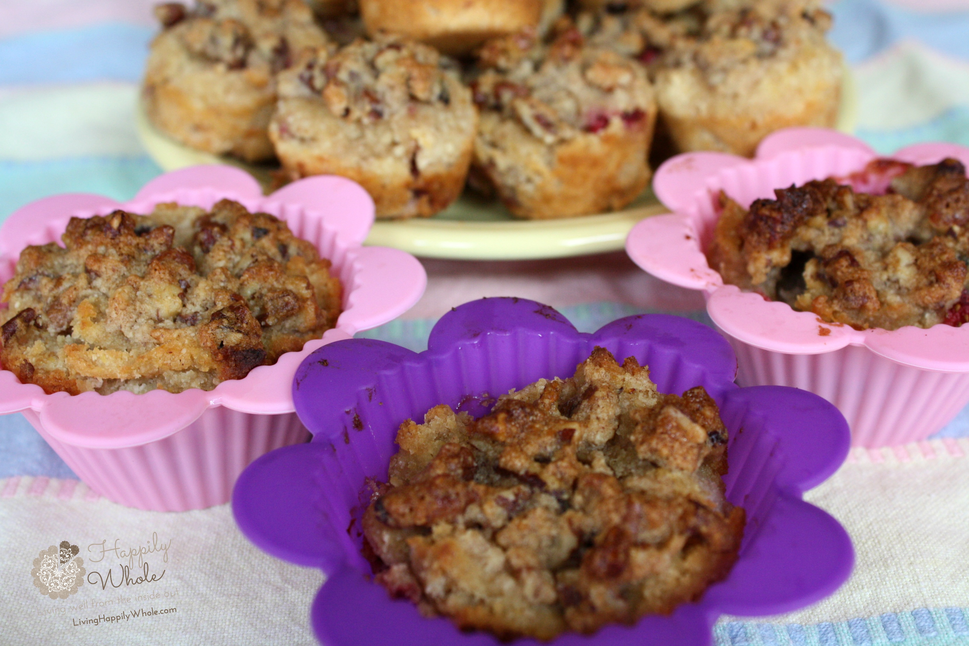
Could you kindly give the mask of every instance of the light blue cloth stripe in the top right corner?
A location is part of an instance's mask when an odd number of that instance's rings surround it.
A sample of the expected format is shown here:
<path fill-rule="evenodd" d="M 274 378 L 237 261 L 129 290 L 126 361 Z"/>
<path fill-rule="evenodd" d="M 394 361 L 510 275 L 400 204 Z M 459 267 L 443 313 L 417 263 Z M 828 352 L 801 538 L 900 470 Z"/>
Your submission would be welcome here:
<path fill-rule="evenodd" d="M 850 63 L 858 63 L 903 39 L 913 39 L 955 58 L 969 58 L 969 12 L 914 12 L 879 0 L 841 0 L 829 7 L 828 35 Z"/>

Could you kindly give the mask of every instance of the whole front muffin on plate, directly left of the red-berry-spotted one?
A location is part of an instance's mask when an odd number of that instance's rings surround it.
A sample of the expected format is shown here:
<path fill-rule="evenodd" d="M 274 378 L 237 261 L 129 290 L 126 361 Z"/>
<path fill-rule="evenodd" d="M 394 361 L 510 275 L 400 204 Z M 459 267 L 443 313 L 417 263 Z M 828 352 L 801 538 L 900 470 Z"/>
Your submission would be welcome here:
<path fill-rule="evenodd" d="M 433 48 L 392 36 L 307 52 L 279 76 L 269 138 L 294 179 L 358 182 L 377 217 L 427 217 L 461 193 L 478 112 Z"/>

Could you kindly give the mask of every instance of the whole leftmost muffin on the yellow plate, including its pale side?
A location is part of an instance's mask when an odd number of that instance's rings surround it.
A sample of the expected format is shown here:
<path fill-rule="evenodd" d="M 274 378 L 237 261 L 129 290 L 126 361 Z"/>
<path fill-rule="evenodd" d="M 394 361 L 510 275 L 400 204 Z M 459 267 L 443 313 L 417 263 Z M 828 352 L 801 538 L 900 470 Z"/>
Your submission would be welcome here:
<path fill-rule="evenodd" d="M 159 5 L 142 95 L 166 135 L 247 162 L 274 156 L 266 136 L 276 105 L 273 75 L 326 33 L 301 0 L 211 0 L 189 11 Z"/>

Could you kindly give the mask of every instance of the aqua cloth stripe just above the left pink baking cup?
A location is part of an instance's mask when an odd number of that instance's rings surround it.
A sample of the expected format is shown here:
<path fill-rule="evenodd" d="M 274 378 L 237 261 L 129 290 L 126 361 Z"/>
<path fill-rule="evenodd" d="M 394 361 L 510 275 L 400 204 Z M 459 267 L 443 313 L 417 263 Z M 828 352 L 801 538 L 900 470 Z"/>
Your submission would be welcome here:
<path fill-rule="evenodd" d="M 0 162 L 0 220 L 24 204 L 58 193 L 97 193 L 131 200 L 162 173 L 148 157 Z"/>

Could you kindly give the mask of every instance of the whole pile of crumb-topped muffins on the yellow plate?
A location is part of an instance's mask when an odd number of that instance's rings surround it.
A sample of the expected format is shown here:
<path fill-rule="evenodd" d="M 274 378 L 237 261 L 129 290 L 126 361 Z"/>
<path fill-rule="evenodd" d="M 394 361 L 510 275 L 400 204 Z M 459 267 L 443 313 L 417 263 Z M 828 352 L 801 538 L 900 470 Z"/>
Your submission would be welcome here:
<path fill-rule="evenodd" d="M 831 126 L 841 60 L 815 0 L 206 0 L 156 12 L 144 100 L 172 138 L 285 179 L 359 182 L 380 218 L 465 185 L 517 217 L 620 209 L 672 151 L 750 155 Z"/>

